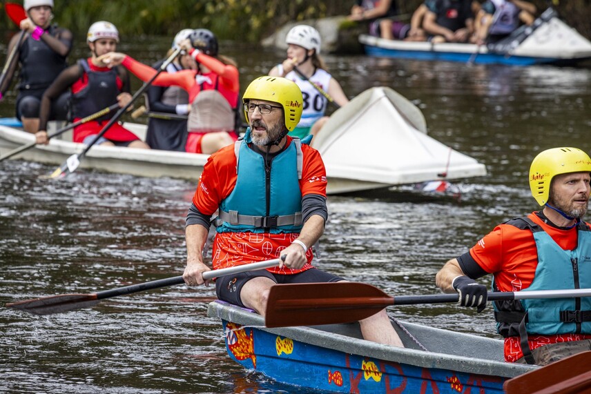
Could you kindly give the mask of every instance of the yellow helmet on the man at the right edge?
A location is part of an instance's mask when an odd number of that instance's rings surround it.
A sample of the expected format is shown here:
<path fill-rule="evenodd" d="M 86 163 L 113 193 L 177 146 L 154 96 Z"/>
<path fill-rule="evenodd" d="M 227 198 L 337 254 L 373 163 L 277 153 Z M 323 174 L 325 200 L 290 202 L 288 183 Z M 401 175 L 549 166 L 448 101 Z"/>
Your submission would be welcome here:
<path fill-rule="evenodd" d="M 530 166 L 530 190 L 541 206 L 548 203 L 550 184 L 556 175 L 591 173 L 591 158 L 577 148 L 552 148 L 540 152 Z"/>

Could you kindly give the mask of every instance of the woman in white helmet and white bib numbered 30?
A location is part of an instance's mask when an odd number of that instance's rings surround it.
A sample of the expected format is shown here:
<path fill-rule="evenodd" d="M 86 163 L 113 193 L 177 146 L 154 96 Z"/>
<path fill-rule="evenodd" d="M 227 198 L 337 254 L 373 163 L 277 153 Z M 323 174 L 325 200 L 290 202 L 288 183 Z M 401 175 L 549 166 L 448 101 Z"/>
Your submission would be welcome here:
<path fill-rule="evenodd" d="M 307 25 L 294 26 L 287 33 L 287 59 L 273 67 L 269 75 L 295 82 L 304 95 L 304 112 L 298 126 L 289 132 L 292 137 L 315 135 L 326 123 L 324 116 L 329 101 L 312 83 L 328 93 L 336 104 L 345 106 L 349 99 L 340 84 L 328 72 L 320 57 L 320 33 Z M 298 72 L 299 71 L 299 72 Z M 301 73 L 301 74 L 300 74 Z"/>

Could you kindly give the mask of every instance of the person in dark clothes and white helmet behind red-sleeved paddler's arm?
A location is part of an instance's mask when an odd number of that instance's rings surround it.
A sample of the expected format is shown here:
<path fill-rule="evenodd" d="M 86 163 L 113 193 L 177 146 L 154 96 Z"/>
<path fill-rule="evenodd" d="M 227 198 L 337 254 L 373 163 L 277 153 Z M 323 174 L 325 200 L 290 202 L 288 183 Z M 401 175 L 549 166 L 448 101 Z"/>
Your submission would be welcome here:
<path fill-rule="evenodd" d="M 166 58 L 180 48 L 182 41 L 188 39 L 193 29 L 183 29 L 177 33 L 173 46 Z M 158 69 L 164 59 L 153 64 Z M 171 74 L 180 70 L 197 70 L 195 59 L 186 52 L 180 53 L 166 68 Z M 150 86 L 146 97 L 148 107 L 148 131 L 146 143 L 152 149 L 184 152 L 187 138 L 187 115 L 191 110 L 188 93 L 179 86 Z"/>

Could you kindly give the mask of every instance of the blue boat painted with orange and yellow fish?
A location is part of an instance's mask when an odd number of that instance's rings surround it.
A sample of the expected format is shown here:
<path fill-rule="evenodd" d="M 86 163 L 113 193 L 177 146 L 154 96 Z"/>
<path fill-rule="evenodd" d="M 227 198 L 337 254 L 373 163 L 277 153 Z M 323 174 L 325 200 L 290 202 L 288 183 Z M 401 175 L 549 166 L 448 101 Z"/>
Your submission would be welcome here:
<path fill-rule="evenodd" d="M 284 384 L 336 393 L 503 393 L 536 366 L 503 362 L 503 342 L 401 322 L 405 348 L 361 339 L 358 324 L 266 328 L 257 313 L 209 304 L 222 319 L 229 356 Z M 414 340 L 417 339 L 424 348 Z"/>

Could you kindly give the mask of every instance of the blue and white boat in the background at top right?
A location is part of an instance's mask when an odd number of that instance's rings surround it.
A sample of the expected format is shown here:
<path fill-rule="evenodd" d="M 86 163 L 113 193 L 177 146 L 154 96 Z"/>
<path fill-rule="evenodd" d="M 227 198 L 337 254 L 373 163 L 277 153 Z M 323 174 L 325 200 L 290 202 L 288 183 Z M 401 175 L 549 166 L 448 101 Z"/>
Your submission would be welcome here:
<path fill-rule="evenodd" d="M 476 64 L 567 65 L 591 59 L 591 41 L 559 19 L 552 8 L 532 26 L 522 26 L 510 37 L 488 46 L 467 43 L 430 43 L 381 39 L 360 35 L 367 55 Z"/>

